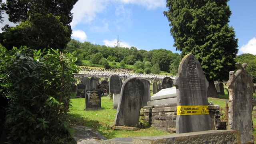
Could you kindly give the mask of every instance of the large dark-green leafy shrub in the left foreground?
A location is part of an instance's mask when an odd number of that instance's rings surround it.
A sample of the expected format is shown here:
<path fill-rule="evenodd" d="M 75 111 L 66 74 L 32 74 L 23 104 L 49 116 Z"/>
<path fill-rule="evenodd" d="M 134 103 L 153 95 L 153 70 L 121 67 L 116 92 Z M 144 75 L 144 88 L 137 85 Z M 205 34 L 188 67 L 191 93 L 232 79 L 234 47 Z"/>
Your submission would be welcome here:
<path fill-rule="evenodd" d="M 45 49 L 44 49 L 45 50 Z M 71 106 L 72 55 L 22 47 L 0 54 L 11 85 L 6 126 L 13 143 L 59 143 L 68 138 L 63 116 Z"/>

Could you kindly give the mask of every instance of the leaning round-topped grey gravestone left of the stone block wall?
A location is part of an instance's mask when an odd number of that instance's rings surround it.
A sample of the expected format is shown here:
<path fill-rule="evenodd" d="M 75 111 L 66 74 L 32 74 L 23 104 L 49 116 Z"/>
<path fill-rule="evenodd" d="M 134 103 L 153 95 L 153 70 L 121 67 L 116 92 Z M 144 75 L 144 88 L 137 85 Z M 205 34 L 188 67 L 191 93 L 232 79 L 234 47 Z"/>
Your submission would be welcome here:
<path fill-rule="evenodd" d="M 122 85 L 115 126 L 136 126 L 140 118 L 140 108 L 144 94 L 144 84 L 138 78 L 128 78 Z"/>

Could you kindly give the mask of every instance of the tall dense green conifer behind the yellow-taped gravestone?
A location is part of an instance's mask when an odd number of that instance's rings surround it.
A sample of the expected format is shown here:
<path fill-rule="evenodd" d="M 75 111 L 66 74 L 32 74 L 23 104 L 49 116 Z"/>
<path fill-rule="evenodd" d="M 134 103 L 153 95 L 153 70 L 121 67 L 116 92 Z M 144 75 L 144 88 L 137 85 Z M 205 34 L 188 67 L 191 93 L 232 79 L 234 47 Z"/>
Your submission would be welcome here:
<path fill-rule="evenodd" d="M 166 0 L 164 12 L 170 33 L 182 57 L 192 53 L 202 65 L 209 81 L 208 96 L 218 97 L 214 80 L 227 80 L 235 69 L 238 39 L 228 26 L 231 11 L 228 0 Z"/>

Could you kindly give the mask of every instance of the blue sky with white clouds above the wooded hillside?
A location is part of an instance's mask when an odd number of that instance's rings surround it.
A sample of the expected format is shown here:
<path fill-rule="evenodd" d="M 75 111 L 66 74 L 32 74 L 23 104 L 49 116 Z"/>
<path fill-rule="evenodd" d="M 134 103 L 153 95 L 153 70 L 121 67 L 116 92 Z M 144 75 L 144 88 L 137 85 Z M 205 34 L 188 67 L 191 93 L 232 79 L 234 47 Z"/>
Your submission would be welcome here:
<path fill-rule="evenodd" d="M 228 5 L 238 54 L 256 54 L 256 0 L 230 0 Z M 172 46 L 169 22 L 163 14 L 166 10 L 166 0 L 79 0 L 72 10 L 72 38 L 116 46 L 119 36 L 122 47 L 147 51 L 163 48 L 175 53 L 178 51 Z M 3 16 L 1 27 L 10 24 L 8 16 Z"/>

